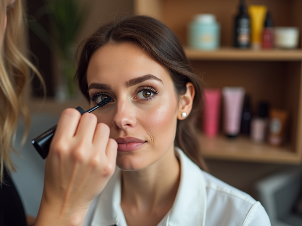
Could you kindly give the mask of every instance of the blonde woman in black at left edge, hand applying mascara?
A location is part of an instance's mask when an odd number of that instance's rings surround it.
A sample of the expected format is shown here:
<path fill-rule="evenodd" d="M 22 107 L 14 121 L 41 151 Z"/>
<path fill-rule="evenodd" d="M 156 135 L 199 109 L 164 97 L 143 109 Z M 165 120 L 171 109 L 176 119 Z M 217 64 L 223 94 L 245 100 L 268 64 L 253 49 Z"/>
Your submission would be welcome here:
<path fill-rule="evenodd" d="M 28 69 L 40 76 L 20 51 L 24 49 L 24 21 L 21 0 L 0 1 L 1 226 L 27 224 L 9 176 L 9 171 L 14 170 L 10 141 L 18 118 L 25 119 L 27 130 L 29 126 L 24 104 Z M 97 124 L 95 115 L 87 113 L 81 117 L 76 109 L 63 111 L 46 161 L 35 225 L 83 225 L 90 203 L 114 173 L 116 152 L 117 143 L 109 139 L 108 126 Z"/>

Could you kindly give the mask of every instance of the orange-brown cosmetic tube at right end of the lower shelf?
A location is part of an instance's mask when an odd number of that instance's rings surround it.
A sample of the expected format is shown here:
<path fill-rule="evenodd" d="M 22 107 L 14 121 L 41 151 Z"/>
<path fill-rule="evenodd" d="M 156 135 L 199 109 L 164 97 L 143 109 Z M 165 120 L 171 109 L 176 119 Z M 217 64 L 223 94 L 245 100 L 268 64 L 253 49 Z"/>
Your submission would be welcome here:
<path fill-rule="evenodd" d="M 287 119 L 287 111 L 271 109 L 268 142 L 272 146 L 280 146 L 283 143 Z"/>

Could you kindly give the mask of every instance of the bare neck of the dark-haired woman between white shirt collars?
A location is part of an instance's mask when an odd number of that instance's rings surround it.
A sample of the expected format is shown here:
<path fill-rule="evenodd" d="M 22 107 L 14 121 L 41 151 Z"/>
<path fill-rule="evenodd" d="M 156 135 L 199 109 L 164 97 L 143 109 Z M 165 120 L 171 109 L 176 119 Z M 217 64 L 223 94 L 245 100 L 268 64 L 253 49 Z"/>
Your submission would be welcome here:
<path fill-rule="evenodd" d="M 122 172 L 122 202 L 152 211 L 173 205 L 180 181 L 174 146 L 156 163 L 139 171 Z"/>

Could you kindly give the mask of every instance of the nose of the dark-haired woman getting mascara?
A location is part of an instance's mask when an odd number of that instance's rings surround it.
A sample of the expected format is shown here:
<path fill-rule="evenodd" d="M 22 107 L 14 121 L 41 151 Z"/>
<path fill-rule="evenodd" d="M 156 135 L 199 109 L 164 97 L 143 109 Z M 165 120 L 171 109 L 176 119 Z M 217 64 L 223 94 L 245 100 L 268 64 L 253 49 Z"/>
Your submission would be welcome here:
<path fill-rule="evenodd" d="M 127 129 L 134 127 L 136 120 L 133 114 L 133 105 L 125 100 L 117 101 L 116 113 L 112 125 L 117 129 Z"/>

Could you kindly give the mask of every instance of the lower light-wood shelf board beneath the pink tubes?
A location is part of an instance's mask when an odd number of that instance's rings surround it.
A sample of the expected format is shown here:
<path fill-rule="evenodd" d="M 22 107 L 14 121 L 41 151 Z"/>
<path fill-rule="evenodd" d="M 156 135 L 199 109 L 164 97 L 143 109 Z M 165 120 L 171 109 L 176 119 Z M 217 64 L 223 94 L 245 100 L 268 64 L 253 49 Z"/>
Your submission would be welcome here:
<path fill-rule="evenodd" d="M 281 164 L 299 164 L 302 160 L 290 146 L 273 147 L 267 143 L 255 144 L 248 137 L 208 138 L 201 134 L 199 139 L 205 159 Z"/>

